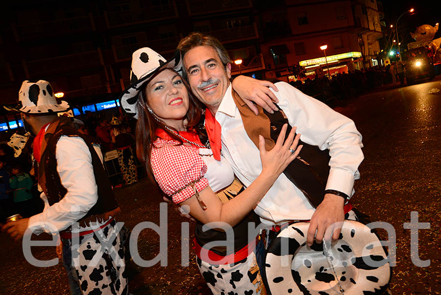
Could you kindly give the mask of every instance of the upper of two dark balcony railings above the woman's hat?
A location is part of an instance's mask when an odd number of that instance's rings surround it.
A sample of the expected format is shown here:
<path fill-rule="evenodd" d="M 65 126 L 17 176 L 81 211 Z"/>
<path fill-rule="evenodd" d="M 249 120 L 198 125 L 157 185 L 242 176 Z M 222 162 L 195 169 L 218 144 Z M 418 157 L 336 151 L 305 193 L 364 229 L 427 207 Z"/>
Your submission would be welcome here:
<path fill-rule="evenodd" d="M 109 26 L 120 26 L 129 23 L 145 23 L 159 19 L 178 17 L 171 2 L 168 5 L 152 5 L 140 9 L 118 12 L 106 12 Z"/>

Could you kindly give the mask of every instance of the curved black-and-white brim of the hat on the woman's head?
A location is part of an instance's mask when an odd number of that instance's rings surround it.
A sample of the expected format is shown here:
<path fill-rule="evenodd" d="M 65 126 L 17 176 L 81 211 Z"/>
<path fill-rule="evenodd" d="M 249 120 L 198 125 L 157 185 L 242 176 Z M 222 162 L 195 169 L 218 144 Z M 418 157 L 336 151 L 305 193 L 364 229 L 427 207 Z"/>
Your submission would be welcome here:
<path fill-rule="evenodd" d="M 136 103 L 138 102 L 139 92 L 142 86 L 151 79 L 156 73 L 164 69 L 173 69 L 182 75 L 182 60 L 181 53 L 179 50 L 174 52 L 172 59 L 166 61 L 164 64 L 159 66 L 156 70 L 148 73 L 147 75 L 141 77 L 136 82 L 128 86 L 120 95 L 120 105 L 124 112 L 135 119 L 138 119 L 138 113 L 136 110 Z"/>

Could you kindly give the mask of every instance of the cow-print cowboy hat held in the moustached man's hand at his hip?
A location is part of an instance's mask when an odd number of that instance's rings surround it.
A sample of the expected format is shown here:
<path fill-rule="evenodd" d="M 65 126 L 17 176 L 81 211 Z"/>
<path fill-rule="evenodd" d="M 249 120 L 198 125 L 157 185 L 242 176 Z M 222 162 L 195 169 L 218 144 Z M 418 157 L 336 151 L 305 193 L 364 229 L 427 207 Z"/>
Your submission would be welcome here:
<path fill-rule="evenodd" d="M 329 257 L 323 243 L 306 245 L 308 227 L 307 222 L 291 224 L 268 247 L 261 270 L 268 294 L 384 294 L 391 275 L 389 261 L 368 226 L 344 221 Z"/>

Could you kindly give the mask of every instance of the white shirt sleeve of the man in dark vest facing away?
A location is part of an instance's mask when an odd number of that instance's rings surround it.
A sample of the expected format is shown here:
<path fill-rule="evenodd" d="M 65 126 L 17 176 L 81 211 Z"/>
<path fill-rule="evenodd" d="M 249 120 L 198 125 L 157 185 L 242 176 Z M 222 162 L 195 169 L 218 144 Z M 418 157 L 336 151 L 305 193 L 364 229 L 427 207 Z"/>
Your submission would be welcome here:
<path fill-rule="evenodd" d="M 99 148 L 95 150 L 102 161 L 101 151 Z M 68 228 L 73 222 L 83 218 L 98 200 L 92 156 L 83 139 L 60 137 L 56 146 L 56 159 L 57 172 L 67 193 L 52 206 L 49 206 L 45 194 L 41 194 L 45 208 L 42 213 L 30 217 L 28 223 L 35 234 L 43 231 L 56 233 Z M 81 227 L 80 231 L 97 228 L 105 222 L 93 222 L 90 227 Z"/>

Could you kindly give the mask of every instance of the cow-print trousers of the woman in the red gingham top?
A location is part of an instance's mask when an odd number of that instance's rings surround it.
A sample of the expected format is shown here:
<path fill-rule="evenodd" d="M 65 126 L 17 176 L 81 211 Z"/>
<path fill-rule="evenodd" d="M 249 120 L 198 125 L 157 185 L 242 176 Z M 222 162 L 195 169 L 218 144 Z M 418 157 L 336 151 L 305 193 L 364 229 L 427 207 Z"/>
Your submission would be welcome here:
<path fill-rule="evenodd" d="M 261 288 L 265 288 L 254 252 L 234 264 L 212 265 L 199 257 L 196 257 L 196 262 L 214 295 L 256 295 L 261 294 Z"/>

